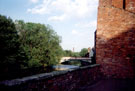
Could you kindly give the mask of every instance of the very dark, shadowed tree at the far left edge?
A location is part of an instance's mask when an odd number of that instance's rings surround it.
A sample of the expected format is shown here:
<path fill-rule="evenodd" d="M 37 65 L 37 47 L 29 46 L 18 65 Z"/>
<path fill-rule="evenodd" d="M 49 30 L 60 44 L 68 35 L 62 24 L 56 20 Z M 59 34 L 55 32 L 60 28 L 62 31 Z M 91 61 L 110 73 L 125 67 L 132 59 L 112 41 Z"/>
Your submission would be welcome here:
<path fill-rule="evenodd" d="M 23 51 L 20 47 L 15 25 L 10 18 L 0 15 L 0 69 L 9 72 L 20 69 L 23 64 Z"/>

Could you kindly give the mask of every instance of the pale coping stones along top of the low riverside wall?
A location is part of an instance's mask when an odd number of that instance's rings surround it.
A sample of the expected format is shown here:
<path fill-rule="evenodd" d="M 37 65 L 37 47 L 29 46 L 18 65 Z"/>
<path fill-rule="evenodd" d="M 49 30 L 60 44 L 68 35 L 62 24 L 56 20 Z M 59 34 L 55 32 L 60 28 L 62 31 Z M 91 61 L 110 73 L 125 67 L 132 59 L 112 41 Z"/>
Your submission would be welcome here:
<path fill-rule="evenodd" d="M 27 77 L 13 79 L 13 80 L 5 80 L 5 81 L 1 81 L 0 85 L 15 86 L 15 85 L 24 84 L 24 83 L 29 82 L 29 81 L 48 79 L 48 78 L 64 75 L 64 74 L 69 73 L 69 72 L 87 69 L 87 68 L 93 68 L 93 67 L 97 67 L 97 66 L 100 66 L 100 64 L 93 64 L 93 65 L 89 65 L 89 66 L 73 68 L 73 69 L 68 69 L 68 70 L 63 70 L 63 71 L 53 71 L 50 73 L 41 73 L 41 74 L 27 76 Z"/>

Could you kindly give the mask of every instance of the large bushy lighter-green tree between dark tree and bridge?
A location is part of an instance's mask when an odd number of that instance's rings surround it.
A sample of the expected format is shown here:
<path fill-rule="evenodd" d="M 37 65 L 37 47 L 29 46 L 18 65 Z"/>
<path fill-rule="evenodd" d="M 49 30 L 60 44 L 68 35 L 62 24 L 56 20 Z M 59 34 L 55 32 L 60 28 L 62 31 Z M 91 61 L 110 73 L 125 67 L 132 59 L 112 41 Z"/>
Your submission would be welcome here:
<path fill-rule="evenodd" d="M 61 39 L 48 25 L 16 21 L 22 47 L 28 56 L 28 67 L 57 64 L 62 55 Z"/>

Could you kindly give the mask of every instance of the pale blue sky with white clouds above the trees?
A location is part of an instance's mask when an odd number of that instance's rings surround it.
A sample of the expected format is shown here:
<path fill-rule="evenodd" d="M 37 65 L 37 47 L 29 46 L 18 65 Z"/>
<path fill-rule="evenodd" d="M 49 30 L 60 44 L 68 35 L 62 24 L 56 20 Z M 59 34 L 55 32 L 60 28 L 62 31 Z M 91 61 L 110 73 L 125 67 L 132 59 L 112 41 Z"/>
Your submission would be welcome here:
<path fill-rule="evenodd" d="M 64 50 L 94 46 L 98 0 L 0 0 L 0 14 L 13 20 L 49 24 Z"/>

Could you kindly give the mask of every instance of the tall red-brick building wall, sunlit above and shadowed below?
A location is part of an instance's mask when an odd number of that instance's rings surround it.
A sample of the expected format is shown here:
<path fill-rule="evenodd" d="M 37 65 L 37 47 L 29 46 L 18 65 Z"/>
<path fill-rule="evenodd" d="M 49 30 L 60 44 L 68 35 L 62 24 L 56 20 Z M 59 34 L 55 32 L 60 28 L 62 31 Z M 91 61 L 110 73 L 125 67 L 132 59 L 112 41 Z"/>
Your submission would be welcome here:
<path fill-rule="evenodd" d="M 107 77 L 135 77 L 135 0 L 100 0 L 96 61 Z"/>

